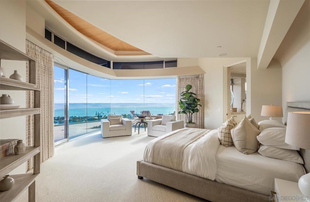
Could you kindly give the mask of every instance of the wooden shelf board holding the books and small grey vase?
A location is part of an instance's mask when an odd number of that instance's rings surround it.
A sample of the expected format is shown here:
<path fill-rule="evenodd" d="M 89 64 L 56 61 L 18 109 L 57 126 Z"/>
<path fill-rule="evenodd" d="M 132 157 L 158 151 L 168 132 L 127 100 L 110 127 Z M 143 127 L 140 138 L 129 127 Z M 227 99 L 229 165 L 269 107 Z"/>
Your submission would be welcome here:
<path fill-rule="evenodd" d="M 14 153 L 0 158 L 0 176 L 4 176 L 7 173 L 13 171 L 17 166 L 31 159 L 34 155 L 40 153 L 40 147 L 27 146 L 26 151 L 23 154 L 15 155 Z"/>

